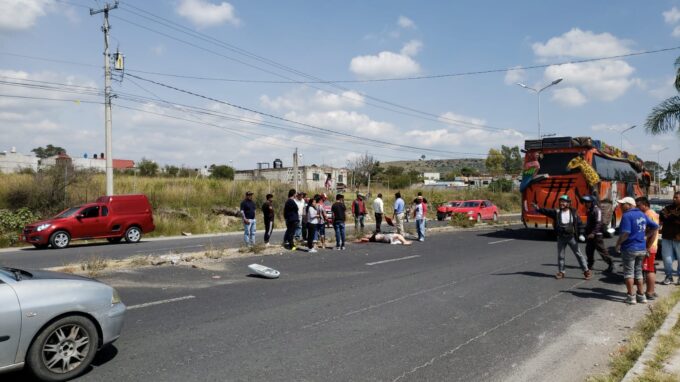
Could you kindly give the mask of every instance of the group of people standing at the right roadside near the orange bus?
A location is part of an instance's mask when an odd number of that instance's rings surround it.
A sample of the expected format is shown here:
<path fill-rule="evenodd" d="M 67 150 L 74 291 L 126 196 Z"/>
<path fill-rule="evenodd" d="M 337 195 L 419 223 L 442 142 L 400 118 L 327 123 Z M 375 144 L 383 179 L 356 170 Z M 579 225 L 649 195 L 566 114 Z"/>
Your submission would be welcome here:
<path fill-rule="evenodd" d="M 565 277 L 565 252 L 569 247 L 583 271 L 583 277 L 592 277 L 595 263 L 595 251 L 607 264 L 604 273 L 613 272 L 613 260 L 604 245 L 604 227 L 602 211 L 596 198 L 586 195 L 581 198 L 587 209 L 585 224 L 581 221 L 576 209 L 571 207 L 568 195 L 559 198 L 559 208 L 546 209 L 533 207 L 539 213 L 553 219 L 557 236 L 557 273 L 555 278 Z M 662 233 L 661 257 L 664 264 L 664 285 L 674 282 L 677 276 L 680 285 L 680 192 L 673 195 L 672 204 L 664 207 L 659 214 L 650 208 L 647 197 L 632 198 L 627 196 L 617 203 L 623 211 L 619 225 L 620 234 L 614 250 L 621 254 L 623 279 L 626 285 L 628 304 L 646 303 L 657 297 L 656 255 L 659 232 Z M 586 256 L 579 249 L 578 241 L 586 243 Z M 673 263 L 678 262 L 675 271 Z"/>

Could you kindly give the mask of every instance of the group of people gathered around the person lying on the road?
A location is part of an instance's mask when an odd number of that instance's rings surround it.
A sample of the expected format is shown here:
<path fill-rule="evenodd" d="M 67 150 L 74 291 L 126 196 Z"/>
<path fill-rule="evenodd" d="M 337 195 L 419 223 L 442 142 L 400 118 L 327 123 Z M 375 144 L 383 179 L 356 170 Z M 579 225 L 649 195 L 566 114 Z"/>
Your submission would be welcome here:
<path fill-rule="evenodd" d="M 375 218 L 375 230 L 365 237 L 368 242 L 391 243 L 409 245 L 411 242 L 404 237 L 404 222 L 408 221 L 406 205 L 401 193 L 395 194 L 394 212 L 392 217 L 386 216 L 382 194 L 378 194 L 373 200 L 372 208 Z M 274 230 L 275 207 L 273 205 L 272 194 L 267 194 L 266 201 L 261 207 L 264 218 L 264 244 L 269 246 Z M 326 248 L 326 225 L 329 224 L 335 231 L 335 249 L 344 250 L 346 248 L 345 221 L 347 219 L 347 206 L 343 194 L 335 196 L 335 202 L 327 210 L 326 205 L 330 204 L 327 195 L 316 194 L 307 197 L 304 192 L 295 189 L 288 191 L 288 199 L 283 206 L 283 219 L 286 224 L 286 231 L 283 237 L 283 246 L 287 249 L 296 250 L 296 243 L 305 243 L 308 252 L 317 252 L 317 245 Z M 418 193 L 413 201 L 412 217 L 415 219 L 417 240 L 425 240 L 427 200 Z M 253 201 L 253 193 L 246 192 L 244 200 L 240 205 L 241 217 L 243 219 L 243 241 L 246 246 L 255 245 L 255 233 L 257 222 L 257 206 Z M 366 224 L 368 209 L 366 196 L 357 192 L 356 198 L 352 201 L 349 209 L 354 218 L 355 229 L 363 232 Z M 396 232 L 384 233 L 382 224 L 385 221 L 388 225 L 394 225 Z"/>

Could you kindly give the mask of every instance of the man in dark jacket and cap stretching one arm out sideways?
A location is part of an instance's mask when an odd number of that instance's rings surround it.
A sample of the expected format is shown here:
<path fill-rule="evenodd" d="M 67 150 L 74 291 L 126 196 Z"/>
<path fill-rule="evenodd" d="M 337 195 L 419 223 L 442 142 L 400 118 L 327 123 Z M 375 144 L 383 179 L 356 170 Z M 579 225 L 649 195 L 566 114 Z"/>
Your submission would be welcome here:
<path fill-rule="evenodd" d="M 571 208 L 571 199 L 569 199 L 569 195 L 560 196 L 559 204 L 560 208 L 558 209 L 539 208 L 536 203 L 533 204 L 536 212 L 553 219 L 553 226 L 555 227 L 555 233 L 557 234 L 557 273 L 555 274 L 555 278 L 558 280 L 564 278 L 564 257 L 566 247 L 569 246 L 583 270 L 583 276 L 586 280 L 590 280 L 592 272 L 588 268 L 586 258 L 578 249 L 578 243 L 576 242 L 576 237 L 579 235 L 581 226 L 583 225 L 581 218 L 576 213 L 576 210 Z"/>

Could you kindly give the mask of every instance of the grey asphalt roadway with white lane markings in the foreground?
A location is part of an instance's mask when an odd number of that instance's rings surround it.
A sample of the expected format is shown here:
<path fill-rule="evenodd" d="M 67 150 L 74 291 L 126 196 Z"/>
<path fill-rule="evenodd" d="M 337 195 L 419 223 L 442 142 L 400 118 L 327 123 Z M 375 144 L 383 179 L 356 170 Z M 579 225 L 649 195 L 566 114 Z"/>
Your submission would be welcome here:
<path fill-rule="evenodd" d="M 281 278 L 249 276 L 253 262 Z M 128 305 L 123 335 L 77 380 L 505 380 L 546 337 L 624 298 L 618 276 L 585 281 L 568 253 L 558 281 L 555 262 L 545 231 L 515 226 L 119 272 L 101 279 Z"/>

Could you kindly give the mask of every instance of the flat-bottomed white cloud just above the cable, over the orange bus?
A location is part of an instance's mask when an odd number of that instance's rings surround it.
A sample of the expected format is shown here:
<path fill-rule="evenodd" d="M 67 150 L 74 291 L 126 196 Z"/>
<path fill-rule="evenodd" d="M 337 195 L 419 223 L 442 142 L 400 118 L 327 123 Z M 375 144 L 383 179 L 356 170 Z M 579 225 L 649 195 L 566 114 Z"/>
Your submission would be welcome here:
<path fill-rule="evenodd" d="M 540 58 L 596 58 L 630 53 L 630 44 L 630 41 L 618 39 L 610 33 L 595 34 L 573 28 L 562 36 L 551 38 L 545 44 L 537 42 L 531 47 Z"/>

